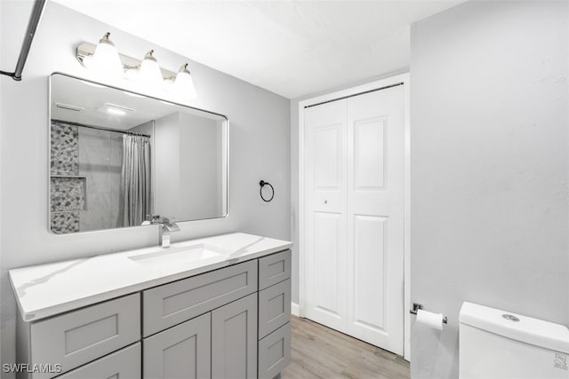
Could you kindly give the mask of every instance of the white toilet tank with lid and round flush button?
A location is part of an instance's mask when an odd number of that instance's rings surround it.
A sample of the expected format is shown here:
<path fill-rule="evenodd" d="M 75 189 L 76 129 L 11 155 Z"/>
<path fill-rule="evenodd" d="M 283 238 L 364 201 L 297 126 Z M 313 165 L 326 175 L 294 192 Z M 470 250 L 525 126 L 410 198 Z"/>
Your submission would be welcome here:
<path fill-rule="evenodd" d="M 569 329 L 519 314 L 463 303 L 460 379 L 569 379 Z"/>

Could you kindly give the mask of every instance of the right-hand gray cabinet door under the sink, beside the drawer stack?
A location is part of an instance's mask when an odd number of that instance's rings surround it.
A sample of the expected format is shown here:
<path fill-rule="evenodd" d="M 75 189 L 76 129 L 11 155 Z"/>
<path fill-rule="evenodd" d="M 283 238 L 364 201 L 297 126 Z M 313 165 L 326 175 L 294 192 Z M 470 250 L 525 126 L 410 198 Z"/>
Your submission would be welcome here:
<path fill-rule="evenodd" d="M 257 294 L 212 312 L 212 378 L 257 377 Z"/>

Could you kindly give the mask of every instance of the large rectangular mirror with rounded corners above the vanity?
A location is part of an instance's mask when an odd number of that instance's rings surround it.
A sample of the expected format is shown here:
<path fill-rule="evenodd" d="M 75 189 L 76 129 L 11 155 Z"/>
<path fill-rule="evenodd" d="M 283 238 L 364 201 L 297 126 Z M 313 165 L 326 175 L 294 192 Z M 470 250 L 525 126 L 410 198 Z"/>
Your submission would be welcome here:
<path fill-rule="evenodd" d="M 52 233 L 227 215 L 227 117 L 69 75 L 50 89 Z"/>

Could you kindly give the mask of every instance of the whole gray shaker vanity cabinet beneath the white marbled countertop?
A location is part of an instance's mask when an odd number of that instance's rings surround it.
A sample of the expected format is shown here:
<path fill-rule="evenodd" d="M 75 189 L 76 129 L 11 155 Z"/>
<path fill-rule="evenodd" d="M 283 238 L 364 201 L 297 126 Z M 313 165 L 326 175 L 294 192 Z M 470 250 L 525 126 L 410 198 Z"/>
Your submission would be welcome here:
<path fill-rule="evenodd" d="M 291 251 L 17 324 L 22 379 L 272 379 L 290 361 Z M 58 376 L 59 375 L 59 376 Z"/>

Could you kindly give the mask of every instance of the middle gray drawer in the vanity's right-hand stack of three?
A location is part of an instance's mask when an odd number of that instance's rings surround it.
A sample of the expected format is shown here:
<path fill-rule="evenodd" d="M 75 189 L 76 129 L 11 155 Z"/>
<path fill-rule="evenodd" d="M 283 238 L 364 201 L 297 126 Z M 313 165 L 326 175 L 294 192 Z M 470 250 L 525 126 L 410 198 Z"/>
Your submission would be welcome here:
<path fill-rule="evenodd" d="M 291 280 L 259 292 L 259 338 L 291 320 Z"/>

